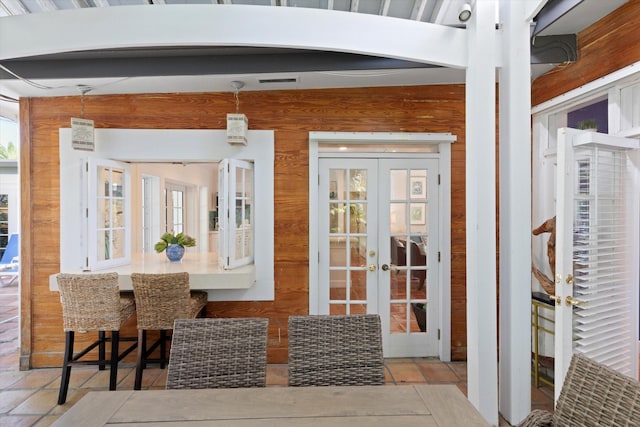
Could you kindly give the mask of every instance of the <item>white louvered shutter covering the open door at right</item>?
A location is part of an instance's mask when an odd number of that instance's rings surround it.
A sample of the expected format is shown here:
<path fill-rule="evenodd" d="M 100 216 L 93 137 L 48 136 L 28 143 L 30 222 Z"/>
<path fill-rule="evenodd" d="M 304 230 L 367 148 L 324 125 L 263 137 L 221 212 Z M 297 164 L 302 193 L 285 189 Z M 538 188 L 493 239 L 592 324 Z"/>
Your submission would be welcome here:
<path fill-rule="evenodd" d="M 637 375 L 637 253 L 627 150 L 575 148 L 574 299 L 576 351 Z M 635 278 L 635 283 L 634 283 Z"/>

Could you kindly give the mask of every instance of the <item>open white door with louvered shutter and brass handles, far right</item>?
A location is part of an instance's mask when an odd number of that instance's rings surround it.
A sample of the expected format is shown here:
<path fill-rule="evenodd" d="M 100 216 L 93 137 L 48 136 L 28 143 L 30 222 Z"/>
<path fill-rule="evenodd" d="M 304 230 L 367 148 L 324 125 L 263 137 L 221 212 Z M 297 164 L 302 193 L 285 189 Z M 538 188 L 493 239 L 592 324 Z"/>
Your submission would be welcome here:
<path fill-rule="evenodd" d="M 574 352 L 637 378 L 637 149 L 634 139 L 558 132 L 556 384 Z"/>

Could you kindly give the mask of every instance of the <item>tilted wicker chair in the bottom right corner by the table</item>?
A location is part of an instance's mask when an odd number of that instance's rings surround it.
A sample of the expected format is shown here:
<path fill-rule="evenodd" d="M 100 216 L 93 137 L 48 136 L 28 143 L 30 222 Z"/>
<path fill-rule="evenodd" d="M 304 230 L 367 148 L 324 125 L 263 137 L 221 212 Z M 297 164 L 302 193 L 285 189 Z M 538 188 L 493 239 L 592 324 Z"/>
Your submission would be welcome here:
<path fill-rule="evenodd" d="M 640 382 L 575 353 L 554 413 L 538 409 L 518 425 L 640 426 Z"/>

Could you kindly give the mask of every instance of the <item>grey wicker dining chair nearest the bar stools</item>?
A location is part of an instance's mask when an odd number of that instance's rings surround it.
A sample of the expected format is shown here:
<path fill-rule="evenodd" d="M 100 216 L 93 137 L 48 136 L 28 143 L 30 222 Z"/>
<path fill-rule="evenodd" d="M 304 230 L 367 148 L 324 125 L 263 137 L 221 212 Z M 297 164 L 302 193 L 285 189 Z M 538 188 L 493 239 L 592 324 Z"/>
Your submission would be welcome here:
<path fill-rule="evenodd" d="M 264 387 L 268 319 L 179 319 L 167 389 Z"/>

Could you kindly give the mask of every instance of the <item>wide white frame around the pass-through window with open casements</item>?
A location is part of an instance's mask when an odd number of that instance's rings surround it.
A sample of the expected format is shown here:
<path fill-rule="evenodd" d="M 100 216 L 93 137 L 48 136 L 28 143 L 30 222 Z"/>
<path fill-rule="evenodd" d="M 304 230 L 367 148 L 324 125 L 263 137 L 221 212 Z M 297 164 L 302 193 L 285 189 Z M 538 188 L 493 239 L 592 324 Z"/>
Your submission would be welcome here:
<path fill-rule="evenodd" d="M 254 162 L 255 169 L 255 254 L 254 264 L 223 271 L 217 263 L 200 264 L 194 275 L 194 289 L 215 289 L 209 301 L 273 301 L 274 280 L 274 161 L 275 133 L 249 130 L 246 146 L 227 143 L 225 130 L 209 129 L 96 129 L 94 152 L 74 150 L 71 129 L 61 128 L 60 160 L 60 272 L 83 271 L 84 249 L 78 244 L 82 223 L 81 159 L 100 157 L 130 163 L 218 162 L 224 158 Z M 176 143 L 179 141 L 179 143 Z M 158 216 L 159 218 L 159 216 Z M 158 219 L 160 224 L 160 219 Z M 136 250 L 142 254 L 140 249 Z M 150 254 L 151 255 L 151 254 Z M 152 254 L 157 255 L 157 254 Z M 127 275 L 128 266 L 114 269 Z M 123 282 L 130 286 L 129 282 Z M 49 276 L 49 288 L 57 290 L 56 275 Z"/>

